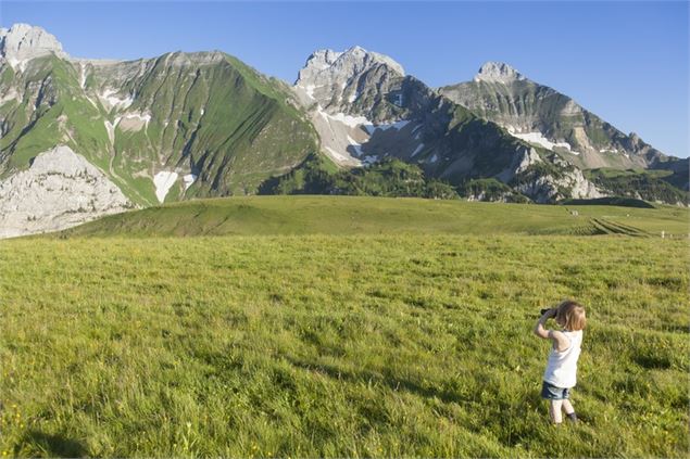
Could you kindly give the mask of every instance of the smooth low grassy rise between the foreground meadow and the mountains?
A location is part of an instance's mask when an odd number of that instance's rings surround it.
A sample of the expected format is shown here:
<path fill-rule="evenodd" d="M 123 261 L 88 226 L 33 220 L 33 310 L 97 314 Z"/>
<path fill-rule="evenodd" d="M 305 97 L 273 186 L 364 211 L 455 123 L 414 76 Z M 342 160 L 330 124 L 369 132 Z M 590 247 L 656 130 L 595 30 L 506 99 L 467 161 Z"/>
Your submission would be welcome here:
<path fill-rule="evenodd" d="M 577 211 L 577 216 L 572 214 Z M 687 235 L 687 208 L 553 206 L 422 199 L 251 196 L 198 200 L 114 215 L 68 235 L 600 234 Z M 632 231 L 602 231 L 604 219 Z"/>

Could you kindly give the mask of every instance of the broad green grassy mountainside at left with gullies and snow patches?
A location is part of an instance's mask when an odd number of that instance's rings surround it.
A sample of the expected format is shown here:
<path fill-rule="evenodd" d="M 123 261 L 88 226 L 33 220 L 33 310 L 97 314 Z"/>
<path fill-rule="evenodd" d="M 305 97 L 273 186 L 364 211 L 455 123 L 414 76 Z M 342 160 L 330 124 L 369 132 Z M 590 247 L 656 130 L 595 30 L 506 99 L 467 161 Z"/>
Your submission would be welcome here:
<path fill-rule="evenodd" d="M 197 176 L 189 190 L 178 179 L 168 200 L 244 194 L 316 150 L 284 85 L 223 53 L 121 63 L 51 55 L 16 78 L 12 72 L 4 66 L 0 76 L 21 94 L 0 105 L 5 175 L 66 143 L 133 201 L 151 205 L 158 171 Z"/>

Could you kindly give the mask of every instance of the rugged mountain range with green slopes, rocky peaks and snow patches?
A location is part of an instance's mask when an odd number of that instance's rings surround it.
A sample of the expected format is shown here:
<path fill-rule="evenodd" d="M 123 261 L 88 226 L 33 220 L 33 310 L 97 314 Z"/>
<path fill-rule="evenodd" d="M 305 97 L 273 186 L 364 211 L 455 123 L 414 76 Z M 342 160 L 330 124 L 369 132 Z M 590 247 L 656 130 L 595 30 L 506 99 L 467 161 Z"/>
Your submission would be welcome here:
<path fill-rule="evenodd" d="M 290 86 L 219 51 L 73 59 L 16 24 L 0 29 L 0 237 L 254 194 L 308 163 L 342 175 L 399 161 L 479 200 L 685 204 L 688 190 L 687 158 L 507 64 L 430 88 L 360 47 L 314 52 Z"/>

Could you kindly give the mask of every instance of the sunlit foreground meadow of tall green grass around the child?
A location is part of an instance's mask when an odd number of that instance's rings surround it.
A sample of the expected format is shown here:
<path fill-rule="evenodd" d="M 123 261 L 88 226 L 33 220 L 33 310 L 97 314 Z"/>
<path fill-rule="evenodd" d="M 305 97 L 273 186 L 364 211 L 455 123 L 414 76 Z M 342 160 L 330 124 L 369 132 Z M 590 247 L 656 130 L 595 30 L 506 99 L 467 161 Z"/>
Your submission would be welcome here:
<path fill-rule="evenodd" d="M 1 241 L 0 451 L 687 457 L 687 239 L 381 231 Z M 556 429 L 531 329 L 565 297 Z"/>

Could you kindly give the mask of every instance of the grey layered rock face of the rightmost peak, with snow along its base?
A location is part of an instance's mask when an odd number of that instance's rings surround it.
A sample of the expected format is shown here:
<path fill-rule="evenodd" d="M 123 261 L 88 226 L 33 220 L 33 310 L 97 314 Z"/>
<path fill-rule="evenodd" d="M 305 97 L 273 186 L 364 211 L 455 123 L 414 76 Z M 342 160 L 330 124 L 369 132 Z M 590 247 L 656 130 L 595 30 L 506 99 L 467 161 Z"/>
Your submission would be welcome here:
<path fill-rule="evenodd" d="M 639 137 L 624 135 L 572 98 L 526 78 L 507 64 L 488 62 L 473 81 L 439 91 L 511 135 L 559 152 L 578 167 L 649 167 L 666 158 Z"/>

